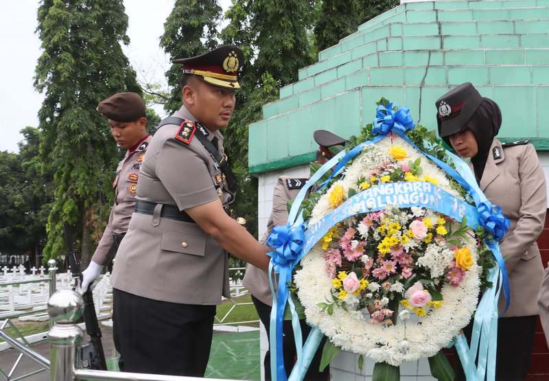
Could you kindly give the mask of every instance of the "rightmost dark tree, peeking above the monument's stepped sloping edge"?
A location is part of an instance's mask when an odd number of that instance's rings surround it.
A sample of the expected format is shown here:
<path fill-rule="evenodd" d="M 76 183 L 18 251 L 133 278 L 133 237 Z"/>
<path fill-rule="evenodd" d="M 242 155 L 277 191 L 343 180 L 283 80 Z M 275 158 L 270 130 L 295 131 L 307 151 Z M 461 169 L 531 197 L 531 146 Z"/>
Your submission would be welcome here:
<path fill-rule="evenodd" d="M 314 27 L 318 51 L 336 45 L 356 32 L 358 25 L 390 10 L 398 0 L 323 0 Z"/>

